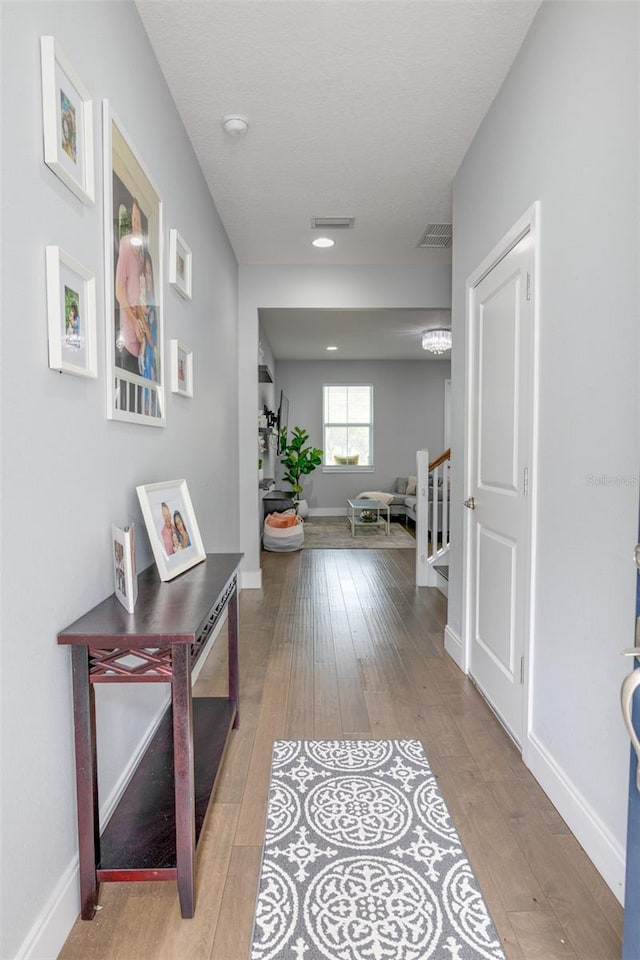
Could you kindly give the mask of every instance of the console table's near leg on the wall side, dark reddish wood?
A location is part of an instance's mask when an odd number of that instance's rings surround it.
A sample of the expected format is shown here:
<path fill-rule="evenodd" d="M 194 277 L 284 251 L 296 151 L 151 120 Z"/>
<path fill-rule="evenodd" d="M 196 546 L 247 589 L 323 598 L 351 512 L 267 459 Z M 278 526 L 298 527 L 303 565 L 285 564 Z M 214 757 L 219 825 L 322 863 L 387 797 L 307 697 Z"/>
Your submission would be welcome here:
<path fill-rule="evenodd" d="M 98 775 L 96 763 L 96 712 L 93 686 L 89 682 L 89 650 L 71 651 L 73 714 L 76 745 L 76 796 L 78 801 L 78 848 L 80 859 L 80 905 L 83 920 L 96 912 L 100 859 L 98 824 Z"/>

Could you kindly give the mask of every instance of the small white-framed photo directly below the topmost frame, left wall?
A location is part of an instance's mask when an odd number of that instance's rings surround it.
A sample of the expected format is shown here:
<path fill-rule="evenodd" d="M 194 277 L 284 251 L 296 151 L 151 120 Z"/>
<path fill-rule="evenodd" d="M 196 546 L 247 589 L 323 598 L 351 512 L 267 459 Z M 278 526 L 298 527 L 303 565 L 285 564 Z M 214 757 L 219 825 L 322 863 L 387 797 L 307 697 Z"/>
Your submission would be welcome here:
<path fill-rule="evenodd" d="M 96 281 L 60 247 L 46 248 L 49 366 L 76 377 L 98 376 Z"/>

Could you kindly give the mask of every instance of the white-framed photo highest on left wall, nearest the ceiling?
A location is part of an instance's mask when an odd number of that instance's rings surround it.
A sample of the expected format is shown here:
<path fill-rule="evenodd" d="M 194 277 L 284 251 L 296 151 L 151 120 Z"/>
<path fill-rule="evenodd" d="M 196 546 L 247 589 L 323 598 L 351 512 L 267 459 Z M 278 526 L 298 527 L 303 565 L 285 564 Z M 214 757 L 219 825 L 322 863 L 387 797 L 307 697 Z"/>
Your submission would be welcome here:
<path fill-rule="evenodd" d="M 40 37 L 44 162 L 83 203 L 94 203 L 93 104 L 53 37 Z"/>

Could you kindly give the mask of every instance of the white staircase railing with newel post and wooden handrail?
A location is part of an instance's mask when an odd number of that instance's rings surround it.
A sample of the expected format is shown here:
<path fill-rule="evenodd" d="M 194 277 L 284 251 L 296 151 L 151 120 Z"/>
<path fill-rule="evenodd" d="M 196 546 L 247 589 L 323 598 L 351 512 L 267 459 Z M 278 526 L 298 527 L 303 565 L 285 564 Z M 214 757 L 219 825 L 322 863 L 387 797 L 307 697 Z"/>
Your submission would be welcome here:
<path fill-rule="evenodd" d="M 451 449 L 431 461 L 428 450 L 418 450 L 416 470 L 416 584 L 433 587 L 435 567 L 449 553 Z"/>

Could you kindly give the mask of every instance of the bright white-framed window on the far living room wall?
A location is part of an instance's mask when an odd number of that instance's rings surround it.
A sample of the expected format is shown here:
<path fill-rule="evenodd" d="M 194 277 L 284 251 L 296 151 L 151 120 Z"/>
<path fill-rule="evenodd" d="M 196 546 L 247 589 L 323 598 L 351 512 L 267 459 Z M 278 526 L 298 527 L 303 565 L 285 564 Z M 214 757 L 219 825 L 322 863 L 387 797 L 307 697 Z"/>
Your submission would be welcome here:
<path fill-rule="evenodd" d="M 325 470 L 373 469 L 373 387 L 322 388 Z"/>

